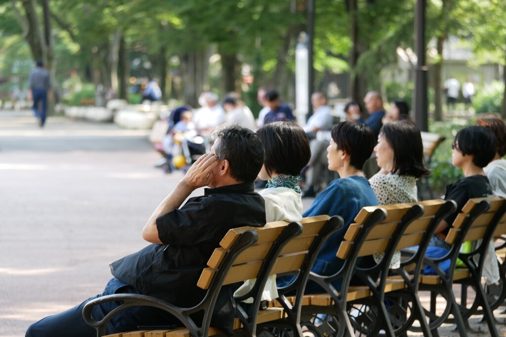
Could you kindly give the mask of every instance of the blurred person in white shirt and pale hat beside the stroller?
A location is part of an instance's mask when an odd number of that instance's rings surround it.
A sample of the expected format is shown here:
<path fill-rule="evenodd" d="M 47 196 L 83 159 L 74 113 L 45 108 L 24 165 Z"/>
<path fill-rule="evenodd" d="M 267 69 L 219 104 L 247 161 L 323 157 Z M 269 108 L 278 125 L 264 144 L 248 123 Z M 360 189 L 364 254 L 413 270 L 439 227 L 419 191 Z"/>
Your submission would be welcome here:
<path fill-rule="evenodd" d="M 218 104 L 218 95 L 212 91 L 202 92 L 198 100 L 203 105 L 195 113 L 193 121 L 200 134 L 208 137 L 225 122 L 225 113 Z"/>

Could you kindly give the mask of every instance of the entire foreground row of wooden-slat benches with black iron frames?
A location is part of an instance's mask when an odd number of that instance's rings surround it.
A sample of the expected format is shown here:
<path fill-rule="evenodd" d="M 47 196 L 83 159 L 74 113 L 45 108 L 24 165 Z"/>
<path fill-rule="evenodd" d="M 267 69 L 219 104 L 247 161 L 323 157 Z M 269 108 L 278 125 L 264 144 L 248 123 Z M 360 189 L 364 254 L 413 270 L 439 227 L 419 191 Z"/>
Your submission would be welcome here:
<path fill-rule="evenodd" d="M 321 336 L 352 336 L 355 332 L 376 336 L 380 331 L 393 336 L 405 334 L 408 329 L 436 336 L 437 328 L 448 321 L 456 323 L 460 335 L 465 336 L 466 320 L 476 313 L 484 315 L 490 335 L 498 336 L 492 310 L 502 303 L 506 290 L 502 290 L 495 302 L 488 303 L 481 275 L 487 243 L 494 236 L 506 233 L 506 203 L 499 197 L 470 200 L 455 219 L 446 238 L 447 243 L 452 245 L 451 250 L 444 257 L 427 258 L 425 253 L 437 224 L 455 208 L 453 201 L 444 200 L 364 207 L 356 216 L 355 223 L 350 225 L 339 248 L 337 257 L 344 260 L 344 267 L 330 276 L 314 274 L 311 267 L 325 239 L 342 228 L 343 219 L 339 216 L 324 215 L 304 218 L 301 222 L 272 222 L 262 228 L 231 229 L 209 259 L 208 267 L 202 271 L 198 286 L 206 289 L 207 294 L 197 306 L 179 308 L 148 296 L 117 294 L 88 303 L 83 317 L 97 329 L 97 336 L 103 336 L 107 322 L 118 311 L 147 305 L 172 313 L 183 322 L 184 327 L 144 329 L 109 337 L 215 335 L 220 331 L 210 327 L 210 319 L 220 288 L 256 278 L 255 286 L 247 294 L 236 298 L 234 328 L 249 336 L 268 331 L 269 334 L 287 332 L 302 337 L 303 330 Z M 465 240 L 479 239 L 482 239 L 481 244 L 475 245 L 472 252 L 460 253 Z M 403 252 L 401 268 L 391 269 L 395 251 L 413 246 L 418 246 L 418 249 Z M 376 253 L 384 253 L 381 262 L 371 268 L 355 267 L 359 258 Z M 455 269 L 457 258 L 467 268 Z M 447 271 L 440 266 L 446 260 L 450 264 Z M 427 264 L 434 268 L 435 275 L 422 274 Z M 263 304 L 261 294 L 268 276 L 290 272 L 296 275 L 293 283 L 278 288 L 279 298 L 268 306 Z M 378 273 L 381 275 L 379 279 L 371 277 Z M 352 276 L 359 278 L 364 285 L 350 285 Z M 506 284 L 505 277 L 502 268 L 502 284 Z M 317 282 L 325 293 L 304 295 L 308 279 Z M 340 290 L 332 285 L 338 279 L 343 284 Z M 475 301 L 471 307 L 457 303 L 452 291 L 453 283 L 475 289 Z M 431 292 L 433 302 L 430 308 L 422 306 L 419 291 Z M 438 296 L 447 303 L 442 314 L 436 313 Z M 243 305 L 241 301 L 247 298 L 254 299 L 252 305 Z M 104 319 L 94 321 L 92 308 L 107 301 L 123 301 L 123 304 Z M 478 311 L 479 307 L 481 311 Z M 205 314 L 199 327 L 190 314 L 200 310 Z M 413 325 L 415 320 L 419 322 L 417 328 Z"/>

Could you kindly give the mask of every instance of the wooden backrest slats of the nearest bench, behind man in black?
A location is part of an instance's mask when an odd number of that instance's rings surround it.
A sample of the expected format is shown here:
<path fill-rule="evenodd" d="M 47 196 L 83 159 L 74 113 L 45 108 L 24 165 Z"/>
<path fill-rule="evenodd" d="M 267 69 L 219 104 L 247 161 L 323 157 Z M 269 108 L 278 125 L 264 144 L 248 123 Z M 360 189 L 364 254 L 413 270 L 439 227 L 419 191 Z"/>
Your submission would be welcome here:
<path fill-rule="evenodd" d="M 291 239 L 286 246 L 282 248 L 269 274 L 280 274 L 299 270 L 314 238 L 328 219 L 329 216 L 327 215 L 302 219 L 299 224 L 299 226 L 301 226 L 301 234 L 299 234 L 297 238 Z M 285 221 L 276 221 L 270 222 L 261 228 L 240 227 L 230 229 L 221 241 L 221 247 L 215 249 L 213 255 L 207 262 L 208 267 L 204 268 L 202 271 L 197 285 L 203 289 L 209 287 L 228 250 L 232 247 L 239 235 L 246 230 L 254 230 L 258 234 L 257 243 L 248 247 L 238 255 L 227 273 L 223 284 L 231 284 L 257 278 L 273 243 L 276 242 L 287 225 L 288 223 Z"/>

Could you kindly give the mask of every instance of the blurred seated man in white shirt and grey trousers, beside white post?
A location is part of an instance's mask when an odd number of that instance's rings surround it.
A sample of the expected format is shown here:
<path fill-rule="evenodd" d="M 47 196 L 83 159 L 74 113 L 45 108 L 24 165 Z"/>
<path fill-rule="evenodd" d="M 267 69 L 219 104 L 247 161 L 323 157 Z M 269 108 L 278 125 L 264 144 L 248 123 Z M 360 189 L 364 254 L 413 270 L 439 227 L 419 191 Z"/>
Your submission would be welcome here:
<path fill-rule="evenodd" d="M 304 131 L 311 139 L 311 159 L 306 168 L 306 186 L 303 191 L 303 198 L 315 197 L 315 186 L 318 186 L 325 176 L 327 166 L 328 140 L 316 139 L 316 132 L 320 130 L 330 130 L 332 128 L 332 115 L 330 107 L 327 105 L 327 98 L 322 92 L 315 92 L 311 95 L 311 104 L 315 109 L 313 115 L 309 117 Z"/>

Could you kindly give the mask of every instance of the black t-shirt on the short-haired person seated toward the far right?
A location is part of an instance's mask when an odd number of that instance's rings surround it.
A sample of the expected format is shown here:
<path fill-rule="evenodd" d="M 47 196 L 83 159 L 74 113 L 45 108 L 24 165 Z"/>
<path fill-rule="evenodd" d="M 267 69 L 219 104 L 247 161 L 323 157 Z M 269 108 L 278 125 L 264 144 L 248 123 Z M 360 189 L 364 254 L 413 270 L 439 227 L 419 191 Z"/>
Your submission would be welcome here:
<path fill-rule="evenodd" d="M 470 177 L 462 178 L 453 184 L 446 186 L 445 200 L 454 200 L 457 203 L 457 210 L 448 216 L 445 220 L 448 223 L 442 233 L 448 235 L 451 224 L 457 217 L 458 213 L 469 199 L 488 197 L 492 195 L 492 188 L 488 178 L 484 175 L 473 175 Z"/>

